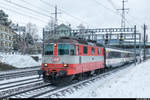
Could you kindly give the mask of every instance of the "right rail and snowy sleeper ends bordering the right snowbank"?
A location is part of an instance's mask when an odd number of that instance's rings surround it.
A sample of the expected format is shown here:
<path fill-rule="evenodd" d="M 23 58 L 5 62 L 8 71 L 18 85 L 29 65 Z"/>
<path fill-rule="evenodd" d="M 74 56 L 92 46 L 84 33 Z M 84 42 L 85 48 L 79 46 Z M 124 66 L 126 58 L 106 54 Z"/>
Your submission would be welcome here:
<path fill-rule="evenodd" d="M 69 85 L 69 86 L 66 86 L 66 87 L 63 87 L 63 88 L 57 88 L 55 90 L 50 90 L 50 91 L 47 91 L 45 93 L 41 93 L 41 95 L 39 94 L 39 95 L 36 95 L 36 96 L 33 96 L 33 97 L 34 98 L 62 98 L 67 94 L 72 94 L 73 92 L 75 92 L 77 90 L 80 90 L 83 87 L 90 86 L 93 82 L 96 82 L 96 81 L 98 81 L 102 78 L 106 78 L 106 77 L 108 77 L 112 74 L 115 74 L 118 71 L 121 71 L 122 69 L 125 69 L 127 67 L 128 66 L 116 68 L 116 69 L 110 70 L 106 73 L 102 73 L 98 76 L 94 76 L 92 78 L 74 83 L 72 85 Z"/>

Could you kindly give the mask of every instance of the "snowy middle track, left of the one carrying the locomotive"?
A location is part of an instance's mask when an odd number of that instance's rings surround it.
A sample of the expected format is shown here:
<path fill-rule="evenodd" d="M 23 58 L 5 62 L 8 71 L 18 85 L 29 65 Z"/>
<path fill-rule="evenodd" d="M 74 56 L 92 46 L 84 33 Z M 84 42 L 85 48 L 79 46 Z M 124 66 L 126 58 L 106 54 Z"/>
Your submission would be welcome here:
<path fill-rule="evenodd" d="M 9 97 L 16 93 L 29 90 L 35 87 L 46 85 L 38 76 L 24 77 L 19 79 L 11 79 L 0 83 L 0 98 Z"/>

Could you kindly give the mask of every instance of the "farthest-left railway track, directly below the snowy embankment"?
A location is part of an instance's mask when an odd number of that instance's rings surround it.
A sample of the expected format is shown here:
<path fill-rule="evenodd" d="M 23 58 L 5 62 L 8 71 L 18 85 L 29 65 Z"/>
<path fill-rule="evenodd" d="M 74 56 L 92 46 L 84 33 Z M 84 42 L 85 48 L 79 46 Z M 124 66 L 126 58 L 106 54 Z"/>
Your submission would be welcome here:
<path fill-rule="evenodd" d="M 12 78 L 38 75 L 39 69 L 40 67 L 32 67 L 32 68 L 19 69 L 14 71 L 1 72 L 0 81 L 12 79 Z"/>

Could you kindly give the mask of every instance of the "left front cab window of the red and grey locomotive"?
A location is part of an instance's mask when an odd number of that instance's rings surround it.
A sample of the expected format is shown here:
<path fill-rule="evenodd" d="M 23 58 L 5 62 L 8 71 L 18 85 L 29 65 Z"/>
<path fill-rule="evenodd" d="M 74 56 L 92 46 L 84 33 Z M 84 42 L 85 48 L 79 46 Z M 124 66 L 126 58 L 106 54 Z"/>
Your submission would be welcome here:
<path fill-rule="evenodd" d="M 44 46 L 44 55 L 53 55 L 54 44 L 46 44 Z"/>

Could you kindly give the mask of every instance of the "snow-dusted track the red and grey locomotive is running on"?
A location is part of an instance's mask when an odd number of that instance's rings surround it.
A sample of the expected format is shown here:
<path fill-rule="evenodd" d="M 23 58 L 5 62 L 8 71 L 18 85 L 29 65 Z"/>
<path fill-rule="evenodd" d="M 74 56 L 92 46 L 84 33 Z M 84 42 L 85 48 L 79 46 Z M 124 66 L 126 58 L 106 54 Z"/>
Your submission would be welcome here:
<path fill-rule="evenodd" d="M 60 98 L 68 93 L 71 94 L 76 90 L 79 90 L 87 85 L 92 84 L 97 80 L 110 76 L 111 74 L 114 74 L 127 67 L 128 66 L 124 66 L 113 70 L 109 70 L 108 72 L 63 87 L 56 87 L 48 83 L 43 83 L 43 86 L 34 87 L 11 95 L 3 96 L 3 98 Z"/>

